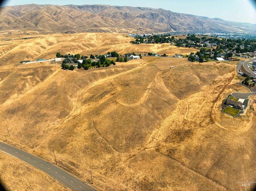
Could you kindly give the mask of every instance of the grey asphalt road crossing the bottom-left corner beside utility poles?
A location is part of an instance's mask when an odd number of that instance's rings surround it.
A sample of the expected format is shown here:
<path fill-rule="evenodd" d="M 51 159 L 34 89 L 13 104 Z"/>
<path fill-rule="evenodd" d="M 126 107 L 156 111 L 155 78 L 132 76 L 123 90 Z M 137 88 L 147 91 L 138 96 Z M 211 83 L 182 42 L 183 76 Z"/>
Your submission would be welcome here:
<path fill-rule="evenodd" d="M 0 142 L 0 150 L 44 171 L 46 174 L 58 180 L 60 183 L 66 185 L 70 189 L 73 189 L 75 191 L 97 191 L 97 189 L 84 183 L 80 179 L 74 177 L 73 175 L 57 167 L 56 165 L 49 163 L 41 158 L 38 158 L 32 154 L 29 154 L 23 150 L 20 150 L 3 142 Z"/>

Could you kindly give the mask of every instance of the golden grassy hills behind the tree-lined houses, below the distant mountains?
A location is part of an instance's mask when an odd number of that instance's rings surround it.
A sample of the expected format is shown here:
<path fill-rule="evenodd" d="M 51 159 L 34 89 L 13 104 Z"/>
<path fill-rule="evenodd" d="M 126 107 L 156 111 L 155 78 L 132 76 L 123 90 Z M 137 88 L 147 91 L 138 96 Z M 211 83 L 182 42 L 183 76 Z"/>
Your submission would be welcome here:
<path fill-rule="evenodd" d="M 121 33 L 76 33 L 40 35 L 35 32 L 8 32 L 0 33 L 0 65 L 20 63 L 24 60 L 38 58 L 49 59 L 56 57 L 56 52 L 61 54 L 100 55 L 108 51 L 119 54 L 148 52 L 166 55 L 176 53 L 190 54 L 196 52 L 194 48 L 180 48 L 164 44 L 132 44 L 134 40 Z M 27 39 L 24 39 L 27 38 Z"/>

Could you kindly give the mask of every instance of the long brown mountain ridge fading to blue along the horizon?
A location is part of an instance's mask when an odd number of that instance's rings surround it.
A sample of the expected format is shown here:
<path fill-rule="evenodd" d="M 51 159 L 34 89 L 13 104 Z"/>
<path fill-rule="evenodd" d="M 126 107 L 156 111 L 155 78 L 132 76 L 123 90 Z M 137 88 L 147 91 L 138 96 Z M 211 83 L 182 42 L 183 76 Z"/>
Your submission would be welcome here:
<path fill-rule="evenodd" d="M 38 32 L 241 32 L 256 33 L 256 25 L 224 21 L 162 8 L 109 5 L 37 5 L 0 8 L 0 31 Z"/>

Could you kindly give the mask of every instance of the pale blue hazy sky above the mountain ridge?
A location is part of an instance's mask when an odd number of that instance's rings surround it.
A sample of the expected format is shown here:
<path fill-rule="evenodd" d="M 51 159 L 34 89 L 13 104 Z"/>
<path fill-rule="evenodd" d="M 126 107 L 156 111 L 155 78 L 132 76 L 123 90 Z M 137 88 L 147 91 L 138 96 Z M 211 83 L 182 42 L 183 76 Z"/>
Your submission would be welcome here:
<path fill-rule="evenodd" d="M 1 6 L 32 3 L 54 5 L 105 4 L 163 8 L 172 12 L 256 24 L 255 0 L 4 0 Z"/>

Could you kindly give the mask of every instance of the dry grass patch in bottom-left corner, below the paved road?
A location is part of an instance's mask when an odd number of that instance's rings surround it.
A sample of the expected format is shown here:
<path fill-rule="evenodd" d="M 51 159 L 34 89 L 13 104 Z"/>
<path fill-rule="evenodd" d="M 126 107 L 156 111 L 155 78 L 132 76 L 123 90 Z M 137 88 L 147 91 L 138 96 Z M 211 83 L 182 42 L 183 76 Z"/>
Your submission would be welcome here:
<path fill-rule="evenodd" d="M 1 183 L 6 190 L 70 191 L 42 171 L 3 152 L 0 155 Z"/>

